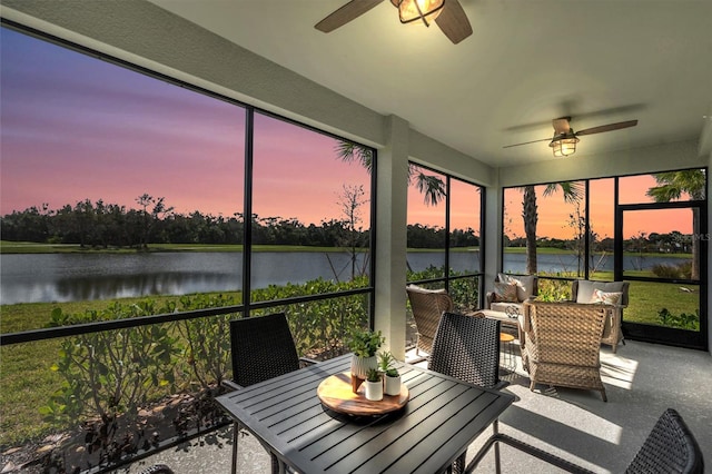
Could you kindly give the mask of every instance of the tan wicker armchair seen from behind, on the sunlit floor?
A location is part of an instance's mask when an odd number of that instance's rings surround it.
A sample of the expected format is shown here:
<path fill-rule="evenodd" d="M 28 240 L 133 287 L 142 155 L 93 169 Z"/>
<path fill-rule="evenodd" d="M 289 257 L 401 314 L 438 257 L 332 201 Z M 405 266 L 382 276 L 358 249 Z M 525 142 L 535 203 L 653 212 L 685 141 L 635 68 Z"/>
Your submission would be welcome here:
<path fill-rule="evenodd" d="M 601 392 L 600 347 L 611 308 L 597 304 L 526 302 L 522 318 L 522 365 L 530 388 L 540 384 Z"/>

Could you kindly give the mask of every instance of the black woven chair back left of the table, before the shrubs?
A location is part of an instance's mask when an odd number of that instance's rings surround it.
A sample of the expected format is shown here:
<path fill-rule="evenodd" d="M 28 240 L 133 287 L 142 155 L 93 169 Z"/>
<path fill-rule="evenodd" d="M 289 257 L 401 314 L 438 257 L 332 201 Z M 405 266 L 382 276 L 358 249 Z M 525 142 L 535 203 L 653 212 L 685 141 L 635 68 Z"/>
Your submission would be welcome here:
<path fill-rule="evenodd" d="M 284 313 L 230 320 L 230 346 L 233 381 L 244 387 L 299 368 Z"/>

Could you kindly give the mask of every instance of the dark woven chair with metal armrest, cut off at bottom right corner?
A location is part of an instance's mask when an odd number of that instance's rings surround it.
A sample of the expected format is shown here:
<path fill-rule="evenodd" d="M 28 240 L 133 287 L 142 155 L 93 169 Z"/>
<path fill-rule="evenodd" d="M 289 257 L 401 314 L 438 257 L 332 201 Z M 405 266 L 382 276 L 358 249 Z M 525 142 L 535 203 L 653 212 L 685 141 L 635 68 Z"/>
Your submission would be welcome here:
<path fill-rule="evenodd" d="M 566 472 L 592 472 L 540 450 L 538 447 L 501 433 L 497 433 L 487 440 L 483 450 L 474 460 L 471 461 L 467 466 L 467 472 L 474 471 L 490 447 L 494 445 L 496 448 L 498 443 L 507 444 Z M 657 423 L 653 426 L 653 429 L 647 435 L 647 438 L 645 438 L 643 446 L 641 446 L 625 472 L 630 474 L 702 474 L 704 472 L 704 460 L 702 457 L 700 445 L 685 422 L 682 419 L 682 416 L 680 416 L 675 409 L 668 408 L 663 412 L 660 418 L 657 418 Z"/>

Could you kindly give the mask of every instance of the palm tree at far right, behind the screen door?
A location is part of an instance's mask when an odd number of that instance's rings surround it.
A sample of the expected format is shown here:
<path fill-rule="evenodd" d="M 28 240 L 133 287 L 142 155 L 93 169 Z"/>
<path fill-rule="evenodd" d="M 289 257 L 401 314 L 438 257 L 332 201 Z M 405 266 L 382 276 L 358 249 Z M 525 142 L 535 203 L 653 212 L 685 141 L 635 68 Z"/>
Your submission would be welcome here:
<path fill-rule="evenodd" d="M 704 200 L 706 176 L 704 169 L 685 169 L 682 171 L 656 172 L 653 175 L 657 186 L 645 195 L 655 203 L 670 203 L 680 199 L 683 194 L 694 200 Z M 691 278 L 700 279 L 700 209 L 692 209 L 692 269 Z"/>

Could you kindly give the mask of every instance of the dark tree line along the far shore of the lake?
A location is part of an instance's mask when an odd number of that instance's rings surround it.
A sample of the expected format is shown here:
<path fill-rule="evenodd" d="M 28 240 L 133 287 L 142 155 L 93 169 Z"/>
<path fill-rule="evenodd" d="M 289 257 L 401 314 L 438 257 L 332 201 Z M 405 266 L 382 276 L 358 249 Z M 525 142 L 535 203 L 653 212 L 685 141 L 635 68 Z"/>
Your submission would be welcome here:
<path fill-rule="evenodd" d="M 75 244 L 82 248 L 146 249 L 149 244 L 244 244 L 245 216 L 214 216 L 195 210 L 176 213 L 162 197 L 148 194 L 136 199 L 137 208 L 85 199 L 58 209 L 44 204 L 13 210 L 0 217 L 2 239 L 42 244 Z M 253 244 L 299 245 L 317 247 L 367 247 L 369 230 L 348 219 L 323 220 L 304 225 L 296 218 L 253 215 Z M 443 248 L 445 229 L 408 226 L 408 245 L 417 248 Z M 453 246 L 478 246 L 472 229 L 451 233 Z"/>

